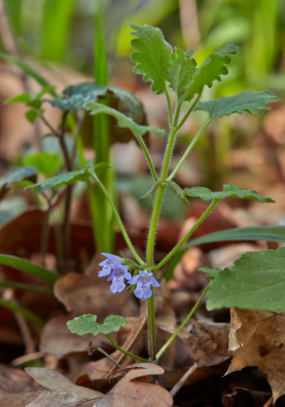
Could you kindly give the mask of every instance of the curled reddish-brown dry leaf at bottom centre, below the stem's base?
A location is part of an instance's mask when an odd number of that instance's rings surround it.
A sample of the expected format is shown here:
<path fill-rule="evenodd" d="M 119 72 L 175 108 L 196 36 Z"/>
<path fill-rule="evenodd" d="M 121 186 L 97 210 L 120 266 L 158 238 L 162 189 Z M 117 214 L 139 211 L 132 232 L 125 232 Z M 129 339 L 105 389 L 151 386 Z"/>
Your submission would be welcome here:
<path fill-rule="evenodd" d="M 134 363 L 133 368 L 107 393 L 96 407 L 171 407 L 173 398 L 164 387 L 133 381 L 142 376 L 163 374 L 154 363 Z"/>

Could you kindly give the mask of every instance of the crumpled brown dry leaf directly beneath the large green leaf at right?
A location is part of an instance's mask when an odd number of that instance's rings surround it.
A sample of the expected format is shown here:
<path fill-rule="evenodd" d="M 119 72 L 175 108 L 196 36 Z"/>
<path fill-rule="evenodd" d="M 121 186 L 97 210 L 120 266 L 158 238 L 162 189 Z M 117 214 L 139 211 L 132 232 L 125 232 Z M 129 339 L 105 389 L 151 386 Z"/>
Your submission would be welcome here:
<path fill-rule="evenodd" d="M 237 339 L 233 338 L 229 347 L 233 358 L 226 374 L 257 366 L 267 374 L 275 402 L 285 394 L 285 315 L 246 309 L 236 309 L 236 313 L 242 325 L 236 330 Z M 231 313 L 231 330 L 236 323 L 235 314 Z M 243 347 L 236 349 L 238 342 L 242 342 Z"/>

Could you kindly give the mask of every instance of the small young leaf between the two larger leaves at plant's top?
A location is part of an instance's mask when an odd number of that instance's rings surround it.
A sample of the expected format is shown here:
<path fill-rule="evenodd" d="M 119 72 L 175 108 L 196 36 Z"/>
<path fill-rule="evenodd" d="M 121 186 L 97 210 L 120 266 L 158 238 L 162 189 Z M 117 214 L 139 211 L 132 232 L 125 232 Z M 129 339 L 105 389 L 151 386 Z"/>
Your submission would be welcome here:
<path fill-rule="evenodd" d="M 184 53 L 180 48 L 175 48 L 175 54 L 171 54 L 172 63 L 168 69 L 167 80 L 169 81 L 169 87 L 176 92 L 178 98 L 182 96 L 184 86 L 191 81 L 193 74 L 197 70 L 197 62 L 195 59 L 191 59 L 193 53 L 193 50 Z"/>

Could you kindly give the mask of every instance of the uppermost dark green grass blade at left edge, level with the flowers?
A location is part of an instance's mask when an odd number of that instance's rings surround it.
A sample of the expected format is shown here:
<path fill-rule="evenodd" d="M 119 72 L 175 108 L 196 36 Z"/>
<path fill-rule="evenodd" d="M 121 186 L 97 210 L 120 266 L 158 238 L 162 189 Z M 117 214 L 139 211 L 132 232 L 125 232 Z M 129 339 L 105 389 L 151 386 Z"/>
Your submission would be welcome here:
<path fill-rule="evenodd" d="M 52 273 L 44 267 L 38 266 L 25 258 L 10 256 L 9 254 L 0 254 L 0 264 L 32 274 L 49 284 L 54 284 L 59 278 L 57 274 Z"/>

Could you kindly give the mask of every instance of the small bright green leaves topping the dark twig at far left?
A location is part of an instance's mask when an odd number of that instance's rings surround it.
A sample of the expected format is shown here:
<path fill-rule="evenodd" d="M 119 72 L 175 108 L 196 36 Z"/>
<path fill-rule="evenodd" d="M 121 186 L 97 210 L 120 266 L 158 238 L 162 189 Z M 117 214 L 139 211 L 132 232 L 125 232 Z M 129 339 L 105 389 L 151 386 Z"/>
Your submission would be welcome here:
<path fill-rule="evenodd" d="M 48 92 L 52 92 L 55 89 L 55 86 L 44 86 L 40 92 L 37 94 L 32 94 L 32 93 L 23 93 L 21 95 L 6 99 L 4 101 L 5 104 L 8 103 L 19 103 L 19 102 L 24 102 L 26 103 L 27 107 L 32 107 L 33 109 L 28 110 L 28 112 L 25 113 L 26 118 L 29 120 L 30 123 L 34 123 L 35 119 L 39 115 L 39 109 L 42 106 L 42 100 L 41 97 Z"/>

